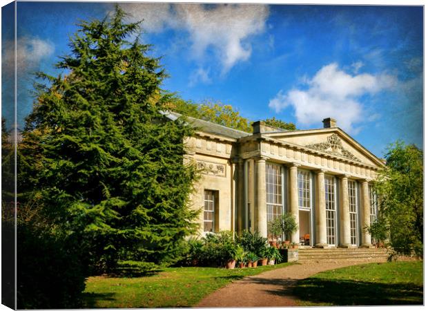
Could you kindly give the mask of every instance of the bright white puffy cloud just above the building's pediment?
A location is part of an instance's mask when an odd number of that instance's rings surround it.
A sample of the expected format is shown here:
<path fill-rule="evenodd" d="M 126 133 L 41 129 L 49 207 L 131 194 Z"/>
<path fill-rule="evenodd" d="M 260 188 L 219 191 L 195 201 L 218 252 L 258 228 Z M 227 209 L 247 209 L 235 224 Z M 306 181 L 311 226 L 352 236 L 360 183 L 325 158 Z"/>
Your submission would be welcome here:
<path fill-rule="evenodd" d="M 276 112 L 287 106 L 295 110 L 295 117 L 304 126 L 320 124 L 324 117 L 334 117 L 338 126 L 350 133 L 357 133 L 356 124 L 364 119 L 364 107 L 359 101 L 362 95 L 373 95 L 396 86 L 397 79 L 387 74 L 349 75 L 329 64 L 318 70 L 311 79 L 305 79 L 308 88 L 293 88 L 284 93 L 280 91 L 269 102 Z"/>

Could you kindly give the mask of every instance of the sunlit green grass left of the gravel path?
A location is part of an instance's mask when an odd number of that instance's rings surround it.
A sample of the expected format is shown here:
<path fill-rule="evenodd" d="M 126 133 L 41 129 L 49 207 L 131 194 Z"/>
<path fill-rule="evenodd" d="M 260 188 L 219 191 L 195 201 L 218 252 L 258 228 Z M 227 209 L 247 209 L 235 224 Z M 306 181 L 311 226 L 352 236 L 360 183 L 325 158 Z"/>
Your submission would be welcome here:
<path fill-rule="evenodd" d="M 290 263 L 233 270 L 171 267 L 135 278 L 91 276 L 86 282 L 85 308 L 192 307 L 230 282 L 287 265 Z"/>

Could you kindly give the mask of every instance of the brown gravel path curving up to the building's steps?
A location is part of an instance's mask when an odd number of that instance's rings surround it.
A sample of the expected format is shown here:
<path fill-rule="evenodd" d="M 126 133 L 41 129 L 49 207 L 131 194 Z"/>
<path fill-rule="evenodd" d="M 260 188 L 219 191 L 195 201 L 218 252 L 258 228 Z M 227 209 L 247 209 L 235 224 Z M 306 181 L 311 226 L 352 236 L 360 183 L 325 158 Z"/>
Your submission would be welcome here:
<path fill-rule="evenodd" d="M 380 260 L 385 262 L 384 260 Z M 307 261 L 235 281 L 195 305 L 211 307 L 285 307 L 295 304 L 293 285 L 318 272 L 376 261 Z M 247 268 L 249 269 L 249 268 Z"/>

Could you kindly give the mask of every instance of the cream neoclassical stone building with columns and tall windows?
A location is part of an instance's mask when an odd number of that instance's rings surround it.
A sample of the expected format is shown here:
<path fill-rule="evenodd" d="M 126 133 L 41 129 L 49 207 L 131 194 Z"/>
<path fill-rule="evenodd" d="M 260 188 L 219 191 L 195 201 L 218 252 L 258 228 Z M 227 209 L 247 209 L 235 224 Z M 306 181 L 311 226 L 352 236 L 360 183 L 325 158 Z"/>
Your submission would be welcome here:
<path fill-rule="evenodd" d="M 168 115 L 171 119 L 177 114 Z M 322 129 L 286 131 L 253 123 L 253 133 L 189 118 L 188 158 L 202 169 L 191 196 L 200 234 L 249 229 L 268 235 L 284 212 L 299 225 L 291 242 L 313 247 L 369 247 L 363 229 L 376 219 L 371 186 L 384 163 L 324 119 Z"/>

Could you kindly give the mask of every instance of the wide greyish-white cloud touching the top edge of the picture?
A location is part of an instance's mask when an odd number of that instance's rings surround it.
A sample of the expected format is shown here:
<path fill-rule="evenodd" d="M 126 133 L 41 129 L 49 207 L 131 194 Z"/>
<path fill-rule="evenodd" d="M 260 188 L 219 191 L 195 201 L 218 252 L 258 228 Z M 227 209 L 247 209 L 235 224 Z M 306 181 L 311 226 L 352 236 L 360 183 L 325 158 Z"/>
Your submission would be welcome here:
<path fill-rule="evenodd" d="M 248 4 L 124 3 L 121 7 L 133 15 L 133 21 L 144 19 L 147 32 L 165 28 L 188 32 L 192 55 L 200 64 L 213 48 L 223 74 L 249 59 L 249 38 L 264 32 L 269 16 L 268 6 Z"/>

